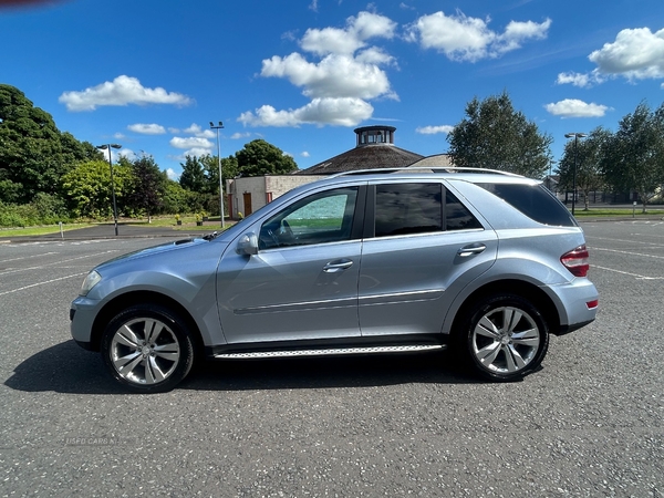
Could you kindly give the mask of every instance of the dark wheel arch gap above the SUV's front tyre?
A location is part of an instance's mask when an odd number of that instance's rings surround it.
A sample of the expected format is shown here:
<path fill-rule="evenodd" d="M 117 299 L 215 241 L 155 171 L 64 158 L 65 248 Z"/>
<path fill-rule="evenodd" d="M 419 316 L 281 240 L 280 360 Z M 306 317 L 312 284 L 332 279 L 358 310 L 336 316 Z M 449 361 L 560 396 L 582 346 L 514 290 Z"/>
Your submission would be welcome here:
<path fill-rule="evenodd" d="M 162 305 L 168 310 L 175 312 L 180 319 L 185 321 L 189 332 L 191 333 L 191 339 L 194 342 L 194 354 L 195 361 L 201 357 L 204 352 L 204 343 L 203 336 L 200 333 L 200 329 L 194 320 L 194 317 L 187 311 L 185 307 L 183 307 L 175 299 L 169 298 L 168 295 L 162 294 L 159 292 L 154 291 L 132 291 L 121 295 L 115 297 L 111 301 L 108 301 L 104 308 L 97 313 L 94 319 L 94 323 L 92 325 L 92 334 L 91 334 L 91 346 L 93 351 L 100 351 L 102 335 L 106 328 L 106 324 L 122 310 L 129 308 L 134 304 L 139 303 L 149 303 Z"/>

